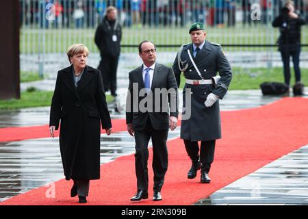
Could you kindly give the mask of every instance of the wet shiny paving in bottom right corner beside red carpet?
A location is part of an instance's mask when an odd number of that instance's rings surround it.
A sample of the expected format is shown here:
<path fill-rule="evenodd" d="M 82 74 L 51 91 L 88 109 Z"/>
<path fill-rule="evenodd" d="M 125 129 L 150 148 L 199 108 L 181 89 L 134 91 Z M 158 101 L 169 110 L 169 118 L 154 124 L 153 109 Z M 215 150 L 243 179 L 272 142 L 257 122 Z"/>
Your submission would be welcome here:
<path fill-rule="evenodd" d="M 308 145 L 203 198 L 195 205 L 308 205 Z"/>

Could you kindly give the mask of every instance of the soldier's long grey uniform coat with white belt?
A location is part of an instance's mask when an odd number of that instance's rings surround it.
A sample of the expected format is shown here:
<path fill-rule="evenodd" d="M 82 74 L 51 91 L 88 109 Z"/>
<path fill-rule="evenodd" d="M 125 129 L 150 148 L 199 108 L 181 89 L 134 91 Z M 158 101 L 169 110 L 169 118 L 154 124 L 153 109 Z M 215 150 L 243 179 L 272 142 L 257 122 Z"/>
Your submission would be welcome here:
<path fill-rule="evenodd" d="M 201 80 L 201 77 L 199 77 L 188 56 L 188 49 L 193 54 L 192 48 L 192 44 L 187 44 L 181 52 L 181 61 L 188 63 L 188 68 L 185 70 L 184 76 L 187 79 Z M 221 78 L 216 87 L 211 84 L 196 86 L 185 83 L 183 88 L 181 138 L 191 141 L 218 139 L 221 138 L 219 101 L 216 101 L 211 107 L 205 107 L 204 103 L 210 93 L 216 94 L 220 99 L 223 98 L 232 79 L 231 67 L 222 51 L 222 47 L 219 44 L 214 44 L 207 40 L 205 40 L 203 49 L 198 51 L 194 62 L 204 79 L 211 79 L 217 75 L 217 72 Z M 181 70 L 178 66 L 177 57 L 172 68 L 179 86 L 181 82 Z M 191 105 L 186 103 L 186 88 L 191 89 Z M 188 110 L 190 110 L 190 113 Z M 185 118 L 188 115 L 190 115 L 190 118 Z"/>

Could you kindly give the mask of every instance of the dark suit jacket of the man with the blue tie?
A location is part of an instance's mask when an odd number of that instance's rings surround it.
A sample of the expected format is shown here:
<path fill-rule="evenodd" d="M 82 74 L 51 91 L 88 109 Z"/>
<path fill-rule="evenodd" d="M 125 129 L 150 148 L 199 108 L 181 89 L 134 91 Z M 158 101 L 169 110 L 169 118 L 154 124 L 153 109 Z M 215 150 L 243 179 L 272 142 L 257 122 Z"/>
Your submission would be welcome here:
<path fill-rule="evenodd" d="M 129 73 L 126 123 L 132 124 L 135 131 L 140 131 L 146 127 L 147 120 L 150 118 L 153 129 L 168 129 L 169 114 L 175 117 L 179 114 L 177 81 L 172 68 L 156 63 L 151 91 L 149 94 L 143 96 L 140 93 L 142 88 L 144 88 L 144 81 L 142 77 L 142 66 L 140 66 Z M 159 92 L 164 90 L 168 90 L 167 95 L 159 94 Z M 151 101 L 153 105 L 150 104 Z M 147 105 L 144 104 L 145 102 Z M 133 105 L 136 109 L 133 108 Z M 146 112 L 140 109 L 140 107 L 137 107 L 139 105 L 146 105 Z"/>

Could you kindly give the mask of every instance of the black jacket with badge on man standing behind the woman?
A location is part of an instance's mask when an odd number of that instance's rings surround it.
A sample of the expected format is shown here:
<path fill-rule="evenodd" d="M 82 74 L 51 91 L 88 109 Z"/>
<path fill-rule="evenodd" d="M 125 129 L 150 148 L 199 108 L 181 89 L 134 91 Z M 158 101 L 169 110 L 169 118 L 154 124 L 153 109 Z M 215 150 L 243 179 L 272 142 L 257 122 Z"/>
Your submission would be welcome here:
<path fill-rule="evenodd" d="M 116 36 L 116 42 L 112 40 L 112 36 Z M 120 55 L 120 41 L 122 38 L 122 27 L 116 21 L 113 25 L 103 18 L 103 22 L 99 24 L 95 31 L 94 42 L 97 44 L 101 57 L 118 57 Z"/>

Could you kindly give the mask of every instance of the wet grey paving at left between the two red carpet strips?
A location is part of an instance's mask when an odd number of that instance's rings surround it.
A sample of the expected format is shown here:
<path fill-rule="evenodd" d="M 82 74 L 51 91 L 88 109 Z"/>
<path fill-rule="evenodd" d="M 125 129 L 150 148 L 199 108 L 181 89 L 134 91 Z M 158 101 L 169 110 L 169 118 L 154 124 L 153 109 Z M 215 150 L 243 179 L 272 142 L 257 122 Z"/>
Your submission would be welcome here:
<path fill-rule="evenodd" d="M 169 139 L 179 136 L 179 128 Z M 59 138 L 0 142 L 0 201 L 64 177 Z M 151 142 L 150 142 L 151 144 Z M 101 136 L 101 164 L 135 152 L 126 131 Z"/>

